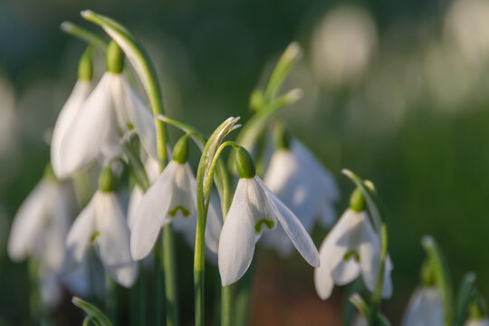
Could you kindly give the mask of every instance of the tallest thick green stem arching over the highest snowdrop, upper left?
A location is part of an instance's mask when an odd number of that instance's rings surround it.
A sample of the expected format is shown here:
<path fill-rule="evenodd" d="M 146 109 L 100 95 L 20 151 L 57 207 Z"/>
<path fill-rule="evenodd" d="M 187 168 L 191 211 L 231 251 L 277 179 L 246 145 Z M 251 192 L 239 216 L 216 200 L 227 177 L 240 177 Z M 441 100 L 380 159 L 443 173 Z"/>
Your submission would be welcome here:
<path fill-rule="evenodd" d="M 163 98 L 161 89 L 158 82 L 158 77 L 153 63 L 149 59 L 149 55 L 145 48 L 139 43 L 139 41 L 129 33 L 129 31 L 109 17 L 101 14 L 95 14 L 90 10 L 82 12 L 82 17 L 91 21 L 94 24 L 100 25 L 103 30 L 110 35 L 110 37 L 119 44 L 120 48 L 138 73 L 149 98 L 151 110 L 155 116 L 155 128 L 157 133 L 157 149 L 158 149 L 158 161 L 159 168 L 162 171 L 168 164 L 168 152 L 167 152 L 167 131 L 165 124 L 162 120 L 157 118 L 158 115 L 163 114 Z M 198 225 L 198 221 L 197 221 Z M 159 259 L 163 263 L 163 270 L 165 271 L 165 294 L 166 294 L 166 311 L 167 311 L 167 324 L 177 325 L 178 305 L 177 305 L 177 282 L 176 282 L 176 266 L 175 266 L 175 248 L 173 242 L 172 230 L 169 227 L 164 228 L 164 234 L 166 239 L 165 246 L 163 248 L 163 255 L 168 258 L 157 258 L 156 263 L 159 263 Z M 158 246 L 158 244 L 157 244 Z M 158 250 L 156 250 L 158 251 Z M 155 251 L 155 252 L 156 252 Z M 158 266 L 159 264 L 157 264 Z M 155 275 L 157 279 L 157 285 L 160 280 L 161 270 Z M 158 289 L 158 288 L 157 288 Z M 158 289 L 159 290 L 159 289 Z M 159 292 L 157 290 L 157 292 Z M 155 298 L 155 302 L 159 302 L 159 294 Z M 158 312 L 157 312 L 158 313 Z M 158 313 L 159 316 L 159 313 Z M 158 321 L 157 316 L 157 321 Z M 160 325 L 161 322 L 158 322 Z"/>

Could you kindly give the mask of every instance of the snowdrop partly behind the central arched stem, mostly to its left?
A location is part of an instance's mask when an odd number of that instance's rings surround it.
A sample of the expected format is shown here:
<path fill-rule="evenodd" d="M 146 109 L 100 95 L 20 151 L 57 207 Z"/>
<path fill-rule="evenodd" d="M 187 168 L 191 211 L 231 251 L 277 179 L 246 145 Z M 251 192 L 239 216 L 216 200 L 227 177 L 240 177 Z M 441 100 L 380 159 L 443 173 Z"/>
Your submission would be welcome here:
<path fill-rule="evenodd" d="M 197 184 L 187 163 L 187 135 L 177 141 L 173 158 L 158 179 L 149 187 L 136 208 L 130 237 L 130 253 L 135 260 L 146 257 L 155 245 L 161 227 L 172 223 L 193 245 L 197 226 Z M 215 226 L 220 220 L 215 205 L 209 206 L 206 245 L 217 252 Z"/>

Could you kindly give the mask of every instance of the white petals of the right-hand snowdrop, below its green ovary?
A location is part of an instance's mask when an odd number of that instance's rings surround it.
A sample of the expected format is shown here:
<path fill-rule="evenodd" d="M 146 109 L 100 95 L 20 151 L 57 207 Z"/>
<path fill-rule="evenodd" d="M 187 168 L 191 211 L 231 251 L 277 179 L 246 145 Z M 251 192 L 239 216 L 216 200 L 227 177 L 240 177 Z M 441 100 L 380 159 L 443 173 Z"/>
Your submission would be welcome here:
<path fill-rule="evenodd" d="M 322 242 L 320 257 L 321 266 L 314 271 L 314 284 L 322 300 L 330 297 L 334 284 L 350 283 L 360 273 L 367 289 L 373 292 L 379 271 L 380 241 L 367 213 L 347 209 Z M 392 295 L 391 270 L 392 263 L 387 257 L 383 298 Z"/>

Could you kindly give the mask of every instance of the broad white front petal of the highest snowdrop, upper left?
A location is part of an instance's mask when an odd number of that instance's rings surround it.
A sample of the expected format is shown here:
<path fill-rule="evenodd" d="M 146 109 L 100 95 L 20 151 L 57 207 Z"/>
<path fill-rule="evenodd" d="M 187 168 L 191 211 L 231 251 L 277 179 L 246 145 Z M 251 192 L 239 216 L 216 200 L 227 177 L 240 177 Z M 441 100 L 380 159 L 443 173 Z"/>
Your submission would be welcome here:
<path fill-rule="evenodd" d="M 117 137 L 110 82 L 110 74 L 104 74 L 66 131 L 59 153 L 62 177 L 90 164 Z"/>

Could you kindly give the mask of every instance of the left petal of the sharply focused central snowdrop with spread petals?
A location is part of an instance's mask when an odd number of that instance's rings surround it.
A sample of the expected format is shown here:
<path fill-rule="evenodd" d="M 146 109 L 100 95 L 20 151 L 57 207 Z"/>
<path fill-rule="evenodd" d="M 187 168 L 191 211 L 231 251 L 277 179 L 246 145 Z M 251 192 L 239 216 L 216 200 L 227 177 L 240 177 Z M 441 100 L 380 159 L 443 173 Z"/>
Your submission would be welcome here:
<path fill-rule="evenodd" d="M 240 179 L 219 239 L 218 264 L 223 286 L 238 281 L 254 254 L 254 217 L 247 203 L 247 183 Z"/>

